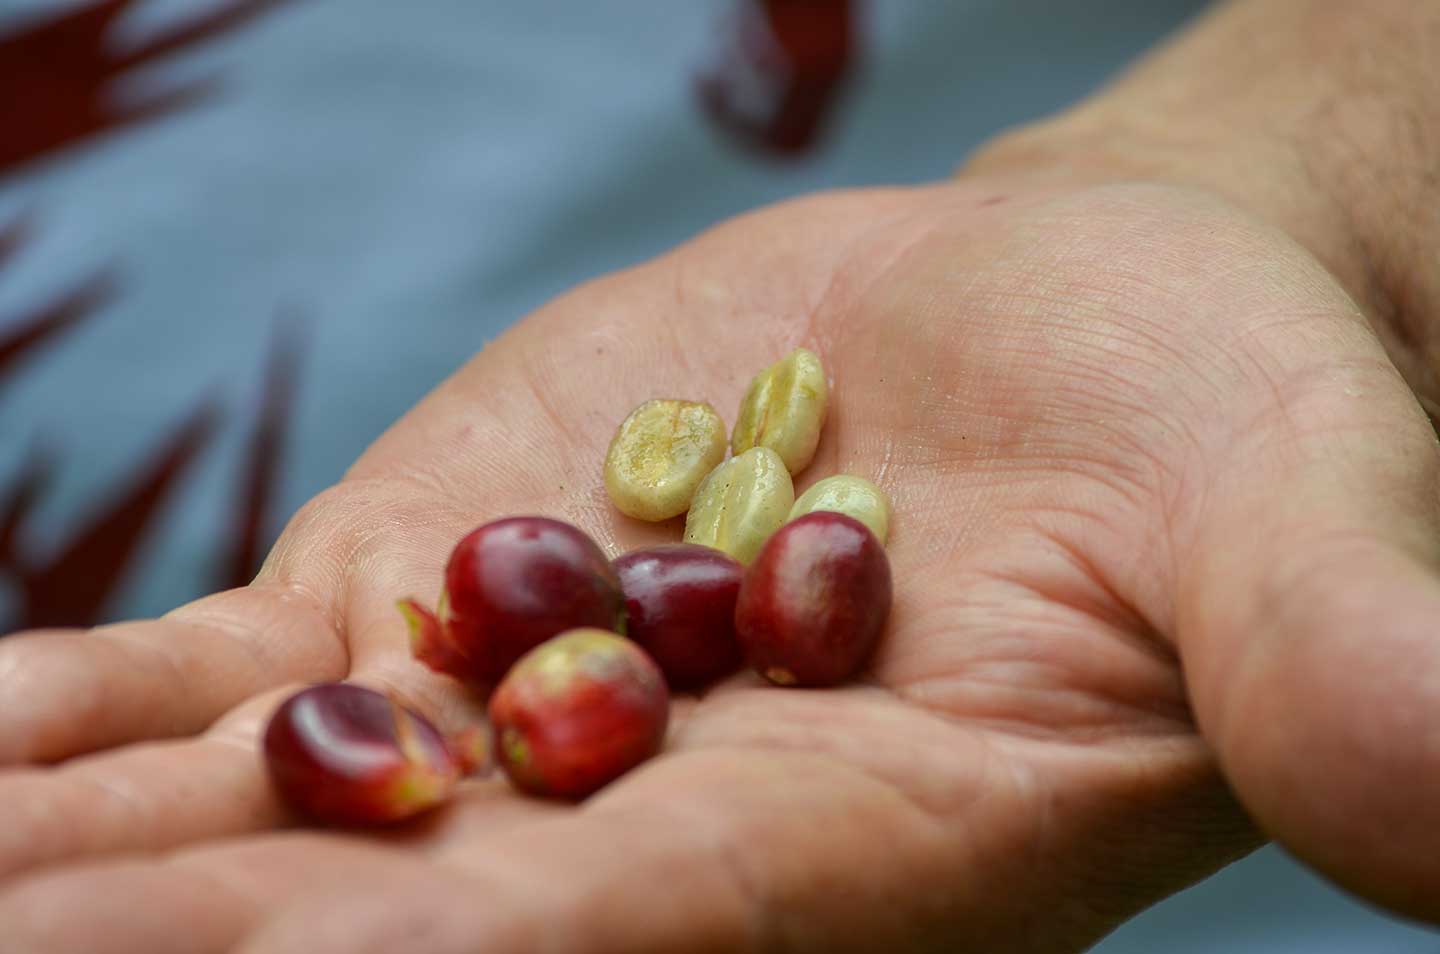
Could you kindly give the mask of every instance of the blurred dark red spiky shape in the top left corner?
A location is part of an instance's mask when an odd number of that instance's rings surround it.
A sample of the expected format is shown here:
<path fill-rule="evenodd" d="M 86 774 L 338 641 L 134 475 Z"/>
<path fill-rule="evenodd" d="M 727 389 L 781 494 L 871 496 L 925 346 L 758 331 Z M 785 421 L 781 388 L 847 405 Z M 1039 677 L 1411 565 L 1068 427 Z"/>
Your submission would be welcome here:
<path fill-rule="evenodd" d="M 209 95 L 213 79 L 124 104 L 114 82 L 288 1 L 232 0 L 131 50 L 112 49 L 111 29 L 137 0 L 92 1 L 0 36 L 0 174 Z"/>

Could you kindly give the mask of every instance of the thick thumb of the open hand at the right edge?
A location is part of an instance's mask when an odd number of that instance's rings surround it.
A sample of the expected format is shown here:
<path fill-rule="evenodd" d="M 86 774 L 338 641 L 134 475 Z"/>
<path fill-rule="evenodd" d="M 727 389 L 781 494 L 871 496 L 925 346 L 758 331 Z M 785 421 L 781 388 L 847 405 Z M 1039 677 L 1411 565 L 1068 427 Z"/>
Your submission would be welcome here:
<path fill-rule="evenodd" d="M 1176 633 L 1256 821 L 1440 921 L 1440 447 L 1375 350 L 1236 442 L 1181 565 Z"/>

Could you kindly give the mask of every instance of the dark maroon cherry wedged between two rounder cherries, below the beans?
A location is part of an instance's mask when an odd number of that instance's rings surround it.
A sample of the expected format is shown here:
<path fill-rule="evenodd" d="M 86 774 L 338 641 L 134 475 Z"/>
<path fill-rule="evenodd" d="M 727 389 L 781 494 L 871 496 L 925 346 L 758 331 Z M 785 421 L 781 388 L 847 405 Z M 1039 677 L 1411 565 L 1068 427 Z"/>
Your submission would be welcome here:
<path fill-rule="evenodd" d="M 626 636 L 675 690 L 703 689 L 740 667 L 734 602 L 744 568 L 708 546 L 671 543 L 615 561 L 625 591 Z"/>

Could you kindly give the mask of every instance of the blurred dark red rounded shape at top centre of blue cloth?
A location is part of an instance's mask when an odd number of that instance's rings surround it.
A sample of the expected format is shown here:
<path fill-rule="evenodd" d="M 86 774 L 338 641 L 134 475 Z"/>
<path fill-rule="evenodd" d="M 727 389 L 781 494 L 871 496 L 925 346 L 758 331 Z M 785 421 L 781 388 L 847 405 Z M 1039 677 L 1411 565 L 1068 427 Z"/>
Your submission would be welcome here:
<path fill-rule="evenodd" d="M 855 66 L 857 0 L 742 0 L 719 66 L 700 78 L 710 118 L 776 154 L 812 148 Z"/>

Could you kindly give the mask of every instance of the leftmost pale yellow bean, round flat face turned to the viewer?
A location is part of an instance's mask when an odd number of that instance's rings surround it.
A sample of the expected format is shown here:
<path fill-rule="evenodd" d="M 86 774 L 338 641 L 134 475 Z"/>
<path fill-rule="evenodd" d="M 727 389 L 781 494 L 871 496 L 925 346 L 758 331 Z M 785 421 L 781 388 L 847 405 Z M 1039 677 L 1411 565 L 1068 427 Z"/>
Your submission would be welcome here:
<path fill-rule="evenodd" d="M 621 422 L 605 454 L 605 490 L 621 513 L 668 520 L 724 460 L 724 421 L 708 404 L 647 401 Z"/>

